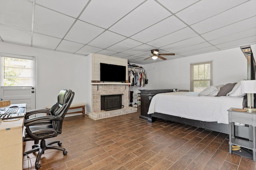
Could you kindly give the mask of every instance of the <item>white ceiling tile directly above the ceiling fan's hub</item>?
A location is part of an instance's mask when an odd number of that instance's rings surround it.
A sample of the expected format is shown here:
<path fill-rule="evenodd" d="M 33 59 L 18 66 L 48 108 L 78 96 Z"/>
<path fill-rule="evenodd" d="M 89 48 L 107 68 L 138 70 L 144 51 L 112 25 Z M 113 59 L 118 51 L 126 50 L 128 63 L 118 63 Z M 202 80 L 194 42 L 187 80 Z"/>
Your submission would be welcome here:
<path fill-rule="evenodd" d="M 151 41 L 147 43 L 148 45 L 152 45 L 154 47 L 162 47 L 168 44 L 176 43 L 178 41 L 182 41 L 184 39 L 191 38 L 193 36 L 196 36 L 197 34 L 195 31 L 190 29 L 189 27 L 183 28 L 179 31 L 176 31 L 174 33 L 168 34 L 164 37 L 161 37 L 159 39 L 156 39 L 154 41 Z"/>

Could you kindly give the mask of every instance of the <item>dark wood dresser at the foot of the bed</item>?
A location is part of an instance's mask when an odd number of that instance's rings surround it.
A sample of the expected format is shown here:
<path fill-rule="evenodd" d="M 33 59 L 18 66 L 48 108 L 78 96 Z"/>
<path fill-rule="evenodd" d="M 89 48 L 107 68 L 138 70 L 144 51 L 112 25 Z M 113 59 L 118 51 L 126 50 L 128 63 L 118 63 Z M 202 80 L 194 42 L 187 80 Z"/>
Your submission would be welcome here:
<path fill-rule="evenodd" d="M 148 107 L 151 102 L 151 98 L 158 93 L 168 93 L 168 92 L 177 92 L 177 89 L 158 89 L 158 90 L 140 90 L 140 118 L 148 119 Z"/>

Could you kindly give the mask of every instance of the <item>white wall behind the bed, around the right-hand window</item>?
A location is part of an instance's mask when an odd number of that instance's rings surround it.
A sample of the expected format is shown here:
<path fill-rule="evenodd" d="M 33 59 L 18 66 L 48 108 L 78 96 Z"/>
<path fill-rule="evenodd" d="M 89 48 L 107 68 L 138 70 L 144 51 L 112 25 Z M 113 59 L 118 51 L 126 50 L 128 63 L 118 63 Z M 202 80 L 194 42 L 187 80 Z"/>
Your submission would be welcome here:
<path fill-rule="evenodd" d="M 251 45 L 256 54 L 256 45 Z M 255 58 L 255 57 L 254 57 Z M 227 49 L 180 59 L 145 64 L 148 84 L 143 89 L 190 90 L 190 64 L 213 61 L 213 85 L 247 79 L 247 61 L 241 49 Z"/>

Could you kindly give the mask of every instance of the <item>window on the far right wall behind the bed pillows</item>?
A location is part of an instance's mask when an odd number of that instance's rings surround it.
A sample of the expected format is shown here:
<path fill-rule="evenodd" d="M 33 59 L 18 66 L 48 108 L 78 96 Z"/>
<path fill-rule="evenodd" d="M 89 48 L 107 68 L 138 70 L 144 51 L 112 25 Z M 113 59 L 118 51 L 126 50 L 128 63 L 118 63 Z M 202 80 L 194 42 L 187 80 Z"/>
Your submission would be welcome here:
<path fill-rule="evenodd" d="M 212 61 L 190 64 L 190 91 L 202 92 L 212 86 Z"/>

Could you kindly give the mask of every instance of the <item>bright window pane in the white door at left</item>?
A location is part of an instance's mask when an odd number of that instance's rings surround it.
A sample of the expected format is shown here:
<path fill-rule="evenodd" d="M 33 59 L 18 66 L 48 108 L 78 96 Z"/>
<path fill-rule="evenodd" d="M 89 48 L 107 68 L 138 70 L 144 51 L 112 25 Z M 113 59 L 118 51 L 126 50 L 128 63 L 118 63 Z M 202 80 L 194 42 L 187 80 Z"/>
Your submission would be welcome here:
<path fill-rule="evenodd" d="M 3 86 L 32 86 L 32 60 L 2 57 L 4 67 Z"/>

